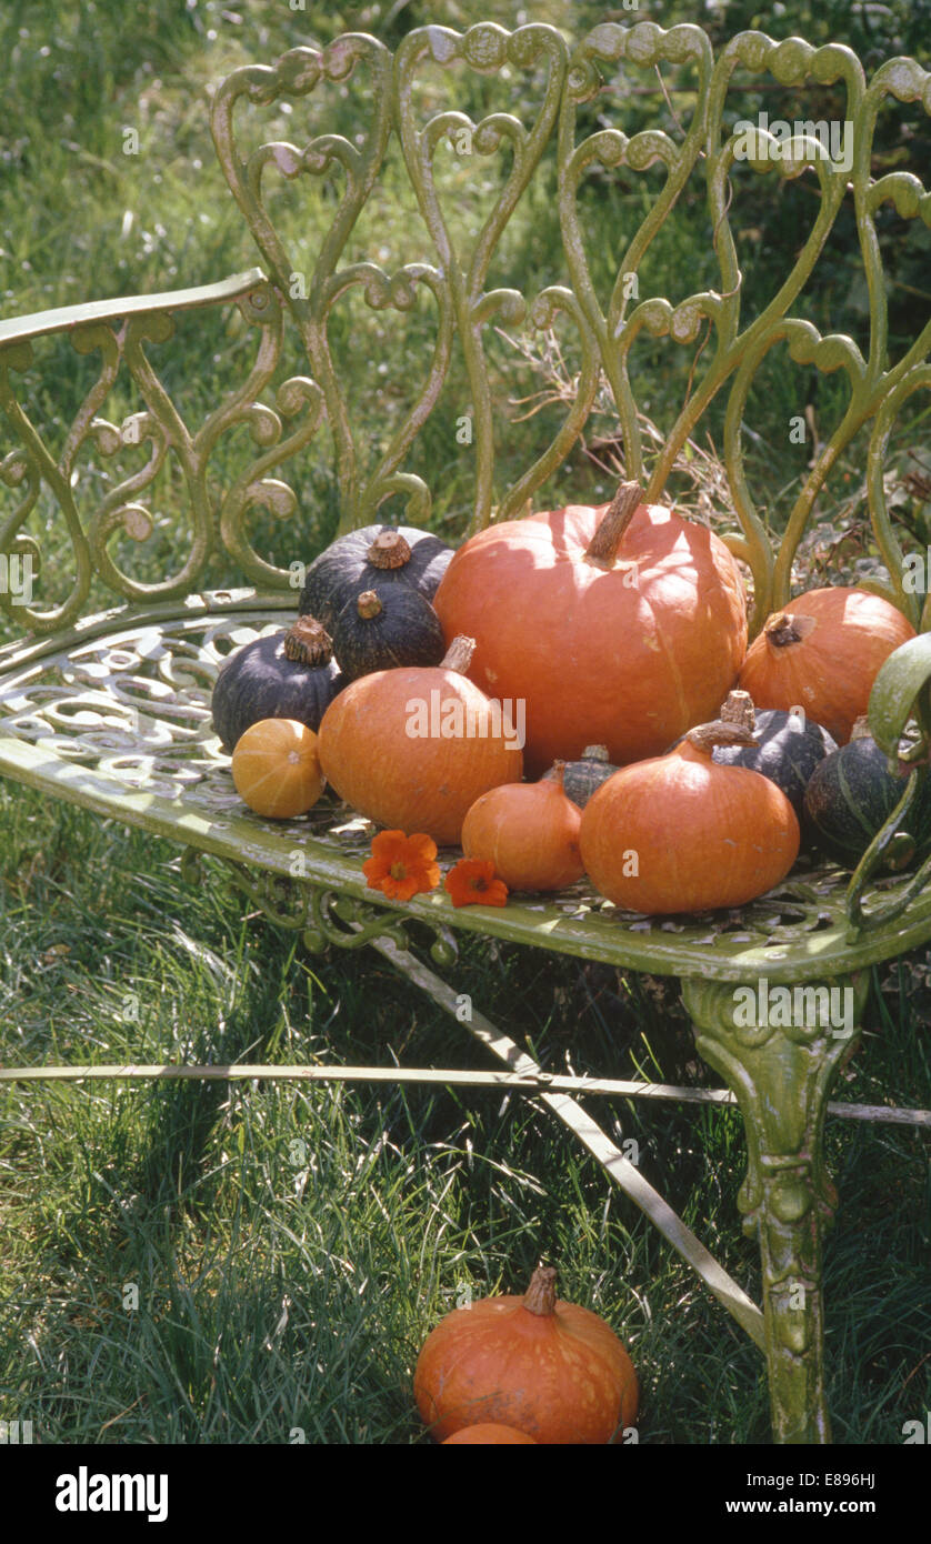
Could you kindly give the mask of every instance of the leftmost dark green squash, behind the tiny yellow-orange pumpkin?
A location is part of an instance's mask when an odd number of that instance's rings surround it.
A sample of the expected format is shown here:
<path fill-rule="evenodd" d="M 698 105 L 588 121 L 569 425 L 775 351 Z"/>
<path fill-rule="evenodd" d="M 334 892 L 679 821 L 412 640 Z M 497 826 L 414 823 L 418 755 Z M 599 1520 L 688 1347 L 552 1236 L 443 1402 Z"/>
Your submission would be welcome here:
<path fill-rule="evenodd" d="M 213 727 L 227 755 L 261 718 L 295 718 L 317 730 L 343 686 L 329 635 L 313 618 L 298 618 L 224 659 L 210 701 Z"/>

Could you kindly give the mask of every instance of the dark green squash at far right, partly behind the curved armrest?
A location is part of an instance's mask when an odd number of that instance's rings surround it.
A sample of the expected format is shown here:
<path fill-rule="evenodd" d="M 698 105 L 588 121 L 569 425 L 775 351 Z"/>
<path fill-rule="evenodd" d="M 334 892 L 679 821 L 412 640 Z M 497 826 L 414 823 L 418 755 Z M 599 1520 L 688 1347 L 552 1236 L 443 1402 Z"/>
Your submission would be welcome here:
<path fill-rule="evenodd" d="M 812 772 L 804 791 L 804 826 L 812 843 L 841 868 L 855 868 L 905 794 L 905 777 L 889 772 L 885 753 L 858 720 L 846 746 Z M 931 778 L 925 780 L 886 852 L 886 869 L 908 868 L 931 843 Z"/>

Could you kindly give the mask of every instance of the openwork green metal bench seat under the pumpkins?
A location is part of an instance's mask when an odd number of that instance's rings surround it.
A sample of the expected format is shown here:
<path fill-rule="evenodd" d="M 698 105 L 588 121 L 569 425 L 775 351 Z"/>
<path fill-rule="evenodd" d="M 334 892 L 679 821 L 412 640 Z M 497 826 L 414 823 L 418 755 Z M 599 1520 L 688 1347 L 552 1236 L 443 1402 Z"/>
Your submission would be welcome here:
<path fill-rule="evenodd" d="M 391 906 L 366 888 L 360 865 L 375 828 L 324 800 L 301 820 L 261 820 L 233 787 L 230 758 L 213 732 L 210 695 L 227 655 L 264 631 L 279 631 L 289 602 L 258 605 L 250 590 L 188 596 L 184 613 L 139 608 L 88 618 L 76 635 L 0 650 L 3 769 L 20 781 L 130 824 L 233 862 L 255 862 L 283 880 L 306 865 L 309 896 L 329 892 L 366 902 L 372 919 Z M 452 849 L 449 849 L 452 857 Z M 912 874 L 869 885 L 868 908 L 899 909 L 914 888 Z M 849 874 L 804 860 L 767 896 L 740 911 L 682 917 L 644 917 L 618 911 L 581 882 L 556 900 L 508 902 L 503 916 L 488 908 L 455 911 L 448 897 L 418 896 L 395 906 L 437 934 L 435 959 L 448 957 L 448 926 L 491 929 L 531 943 L 658 974 L 772 985 L 846 976 L 928 937 L 931 891 L 911 899 L 908 914 L 851 931 Z M 306 931 L 313 933 L 307 913 Z M 317 946 L 323 946 L 323 937 Z"/>

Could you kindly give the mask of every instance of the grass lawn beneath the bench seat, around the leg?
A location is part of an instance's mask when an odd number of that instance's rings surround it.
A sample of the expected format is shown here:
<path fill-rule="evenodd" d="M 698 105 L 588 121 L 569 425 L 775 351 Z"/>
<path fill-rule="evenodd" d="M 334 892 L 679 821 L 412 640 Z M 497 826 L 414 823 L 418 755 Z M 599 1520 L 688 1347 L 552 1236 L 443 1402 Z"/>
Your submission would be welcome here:
<path fill-rule="evenodd" d="M 488 1065 L 377 956 L 295 953 L 218 869 L 184 886 L 168 846 L 6 786 L 0 815 L 5 1059 Z M 659 984 L 472 942 L 449 979 L 551 1070 L 707 1081 Z M 880 977 L 838 1098 L 928 1089 L 920 982 L 909 962 Z M 758 1294 L 738 1115 L 590 1102 Z M 899 1442 L 931 1393 L 926 1147 L 832 1121 L 828 1150 L 835 1441 Z M 760 1354 L 519 1095 L 5 1089 L 0 1194 L 0 1391 L 43 1442 L 425 1441 L 423 1336 L 463 1292 L 519 1291 L 539 1257 L 628 1343 L 642 1442 L 767 1441 Z"/>

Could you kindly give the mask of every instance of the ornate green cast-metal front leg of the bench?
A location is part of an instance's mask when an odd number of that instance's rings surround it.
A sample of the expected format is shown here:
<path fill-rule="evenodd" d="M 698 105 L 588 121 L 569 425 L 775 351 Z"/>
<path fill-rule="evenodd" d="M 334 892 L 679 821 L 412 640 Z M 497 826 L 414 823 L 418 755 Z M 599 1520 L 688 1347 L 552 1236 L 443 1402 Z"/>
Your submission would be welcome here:
<path fill-rule="evenodd" d="M 744 1231 L 760 1240 L 777 1442 L 831 1442 L 821 1240 L 837 1190 L 821 1138 L 831 1084 L 857 1044 L 866 990 L 866 971 L 806 984 L 804 996 L 766 979 L 682 980 L 698 1051 L 733 1090 L 744 1118 L 749 1163 L 738 1204 Z"/>

